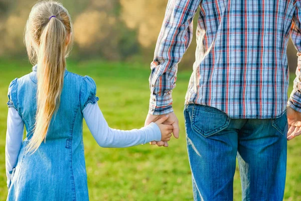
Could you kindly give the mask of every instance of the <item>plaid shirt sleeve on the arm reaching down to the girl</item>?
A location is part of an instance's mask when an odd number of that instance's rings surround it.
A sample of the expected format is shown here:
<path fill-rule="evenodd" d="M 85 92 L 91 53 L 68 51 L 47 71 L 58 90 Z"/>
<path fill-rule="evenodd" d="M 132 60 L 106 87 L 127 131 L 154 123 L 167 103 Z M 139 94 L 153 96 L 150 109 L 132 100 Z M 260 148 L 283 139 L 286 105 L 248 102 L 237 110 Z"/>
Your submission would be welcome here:
<path fill-rule="evenodd" d="M 150 64 L 149 114 L 173 112 L 172 89 L 176 86 L 178 63 L 193 35 L 193 17 L 201 0 L 169 0 L 163 25 Z"/>

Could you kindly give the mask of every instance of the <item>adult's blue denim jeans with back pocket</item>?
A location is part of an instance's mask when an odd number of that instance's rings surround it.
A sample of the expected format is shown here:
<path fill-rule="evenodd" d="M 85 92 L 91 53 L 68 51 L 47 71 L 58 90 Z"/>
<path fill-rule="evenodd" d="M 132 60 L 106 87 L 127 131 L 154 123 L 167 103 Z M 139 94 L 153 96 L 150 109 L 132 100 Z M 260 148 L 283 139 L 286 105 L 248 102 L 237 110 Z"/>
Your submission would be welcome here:
<path fill-rule="evenodd" d="M 282 200 L 286 112 L 276 119 L 230 119 L 202 105 L 184 110 L 194 200 L 233 200 L 238 158 L 242 200 Z"/>

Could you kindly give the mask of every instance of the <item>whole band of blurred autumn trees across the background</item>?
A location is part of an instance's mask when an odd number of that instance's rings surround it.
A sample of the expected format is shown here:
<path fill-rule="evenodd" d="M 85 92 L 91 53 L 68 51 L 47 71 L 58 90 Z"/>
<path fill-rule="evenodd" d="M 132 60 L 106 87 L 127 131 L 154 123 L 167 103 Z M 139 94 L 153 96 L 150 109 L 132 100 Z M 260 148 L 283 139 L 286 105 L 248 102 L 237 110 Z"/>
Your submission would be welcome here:
<path fill-rule="evenodd" d="M 62 0 L 74 26 L 73 59 L 101 58 L 139 60 L 150 63 L 162 26 L 168 0 Z M 23 32 L 36 0 L 0 0 L 0 57 L 26 57 Z M 197 14 L 198 15 L 198 14 Z M 197 17 L 194 19 L 194 33 Z M 192 69 L 195 35 L 179 70 Z M 289 66 L 294 72 L 296 51 L 287 48 Z"/>

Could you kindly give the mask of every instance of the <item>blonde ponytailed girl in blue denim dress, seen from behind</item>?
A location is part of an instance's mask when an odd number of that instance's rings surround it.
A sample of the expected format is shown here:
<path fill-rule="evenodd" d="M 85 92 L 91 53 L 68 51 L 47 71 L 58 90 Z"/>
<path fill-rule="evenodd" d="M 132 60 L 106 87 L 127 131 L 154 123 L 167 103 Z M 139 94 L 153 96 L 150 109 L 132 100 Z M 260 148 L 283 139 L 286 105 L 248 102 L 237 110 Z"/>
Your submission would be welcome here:
<path fill-rule="evenodd" d="M 96 104 L 93 79 L 66 70 L 72 24 L 61 4 L 40 2 L 32 8 L 25 43 L 36 65 L 33 72 L 14 79 L 9 87 L 7 200 L 89 199 L 83 118 L 101 147 L 170 140 L 173 127 L 163 125 L 167 117 L 139 130 L 108 127 Z"/>

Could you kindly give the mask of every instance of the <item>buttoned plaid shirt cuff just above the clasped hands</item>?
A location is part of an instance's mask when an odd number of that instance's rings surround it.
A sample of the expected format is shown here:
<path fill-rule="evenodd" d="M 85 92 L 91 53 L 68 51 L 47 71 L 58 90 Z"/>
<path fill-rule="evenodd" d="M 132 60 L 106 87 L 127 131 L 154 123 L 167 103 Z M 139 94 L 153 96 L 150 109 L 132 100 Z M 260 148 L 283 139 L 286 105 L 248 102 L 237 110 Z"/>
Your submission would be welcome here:
<path fill-rule="evenodd" d="M 149 99 L 148 114 L 165 115 L 174 112 L 172 92 L 168 92 L 164 96 L 151 94 Z"/>

